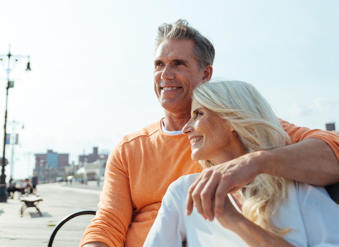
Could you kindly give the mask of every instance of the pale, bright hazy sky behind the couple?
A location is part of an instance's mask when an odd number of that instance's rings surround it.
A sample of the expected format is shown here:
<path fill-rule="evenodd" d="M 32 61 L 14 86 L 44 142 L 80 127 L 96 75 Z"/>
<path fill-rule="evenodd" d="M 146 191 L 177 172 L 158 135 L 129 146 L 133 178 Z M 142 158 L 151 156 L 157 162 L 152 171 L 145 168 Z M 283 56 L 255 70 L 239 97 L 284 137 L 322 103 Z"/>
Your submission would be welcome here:
<path fill-rule="evenodd" d="M 12 55 L 30 56 L 32 69 L 25 71 L 26 58 L 11 64 L 14 178 L 32 175 L 36 153 L 53 149 L 77 163 L 93 146 L 107 153 L 160 120 L 154 41 L 161 23 L 180 18 L 212 40 L 213 78 L 253 84 L 286 121 L 338 129 L 338 11 L 335 0 L 1 1 L 0 54 L 11 45 Z M 6 67 L 0 63 L 0 116 Z M 11 156 L 6 145 L 8 177 Z"/>

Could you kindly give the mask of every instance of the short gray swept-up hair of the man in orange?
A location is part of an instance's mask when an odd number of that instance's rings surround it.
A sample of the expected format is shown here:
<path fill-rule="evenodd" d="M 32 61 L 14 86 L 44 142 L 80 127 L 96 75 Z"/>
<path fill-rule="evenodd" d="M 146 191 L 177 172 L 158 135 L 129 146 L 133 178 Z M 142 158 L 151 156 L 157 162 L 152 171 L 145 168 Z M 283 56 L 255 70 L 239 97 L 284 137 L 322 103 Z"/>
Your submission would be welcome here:
<path fill-rule="evenodd" d="M 161 42 L 169 40 L 192 40 L 195 43 L 194 55 L 198 60 L 199 69 L 213 65 L 215 50 L 211 41 L 192 28 L 188 21 L 179 19 L 173 23 L 161 24 L 155 38 L 155 49 L 158 49 Z"/>

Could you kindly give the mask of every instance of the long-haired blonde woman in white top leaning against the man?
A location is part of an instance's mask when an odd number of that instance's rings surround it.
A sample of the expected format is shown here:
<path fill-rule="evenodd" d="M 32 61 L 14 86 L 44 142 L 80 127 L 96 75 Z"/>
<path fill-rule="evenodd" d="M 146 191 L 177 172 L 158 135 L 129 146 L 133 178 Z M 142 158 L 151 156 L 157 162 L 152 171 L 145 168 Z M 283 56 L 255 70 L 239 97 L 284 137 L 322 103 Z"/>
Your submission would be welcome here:
<path fill-rule="evenodd" d="M 197 87 L 183 133 L 203 167 L 290 143 L 262 95 L 240 81 Z M 223 215 L 210 222 L 196 209 L 185 213 L 198 176 L 169 186 L 144 246 L 339 246 L 339 207 L 323 187 L 260 174 L 228 194 Z"/>

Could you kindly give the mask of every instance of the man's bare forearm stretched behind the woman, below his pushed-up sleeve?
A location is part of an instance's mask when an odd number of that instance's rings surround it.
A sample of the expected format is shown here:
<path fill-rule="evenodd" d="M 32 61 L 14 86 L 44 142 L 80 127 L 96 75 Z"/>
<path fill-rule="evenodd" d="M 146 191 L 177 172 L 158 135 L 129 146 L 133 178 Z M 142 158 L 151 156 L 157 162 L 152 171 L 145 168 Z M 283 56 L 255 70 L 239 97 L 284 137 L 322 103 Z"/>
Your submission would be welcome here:
<path fill-rule="evenodd" d="M 261 152 L 261 151 L 260 151 Z M 327 143 L 319 138 L 262 151 L 262 173 L 325 186 L 339 179 L 339 163 Z"/>

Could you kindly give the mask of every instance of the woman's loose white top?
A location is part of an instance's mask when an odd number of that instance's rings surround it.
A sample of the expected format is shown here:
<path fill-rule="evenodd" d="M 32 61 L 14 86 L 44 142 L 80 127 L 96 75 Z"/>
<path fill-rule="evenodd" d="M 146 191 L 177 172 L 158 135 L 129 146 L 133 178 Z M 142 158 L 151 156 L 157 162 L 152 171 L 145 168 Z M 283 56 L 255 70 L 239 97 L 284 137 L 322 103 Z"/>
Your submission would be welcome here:
<path fill-rule="evenodd" d="M 181 247 L 183 241 L 188 247 L 248 246 L 218 220 L 205 220 L 195 207 L 190 216 L 185 215 L 187 190 L 198 176 L 182 176 L 168 187 L 144 247 Z M 273 222 L 293 229 L 283 238 L 295 246 L 339 246 L 339 207 L 323 187 L 288 182 L 280 220 L 274 215 Z"/>

